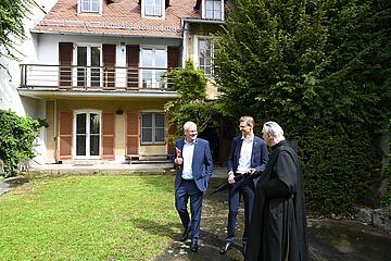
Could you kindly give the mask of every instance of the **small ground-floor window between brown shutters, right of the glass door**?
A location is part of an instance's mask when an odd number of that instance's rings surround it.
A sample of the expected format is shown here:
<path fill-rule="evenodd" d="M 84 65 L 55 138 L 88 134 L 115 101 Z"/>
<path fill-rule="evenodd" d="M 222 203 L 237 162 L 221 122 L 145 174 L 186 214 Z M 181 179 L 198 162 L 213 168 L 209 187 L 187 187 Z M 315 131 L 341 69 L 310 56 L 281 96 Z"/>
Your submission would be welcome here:
<path fill-rule="evenodd" d="M 141 144 L 164 144 L 165 114 L 141 114 Z"/>

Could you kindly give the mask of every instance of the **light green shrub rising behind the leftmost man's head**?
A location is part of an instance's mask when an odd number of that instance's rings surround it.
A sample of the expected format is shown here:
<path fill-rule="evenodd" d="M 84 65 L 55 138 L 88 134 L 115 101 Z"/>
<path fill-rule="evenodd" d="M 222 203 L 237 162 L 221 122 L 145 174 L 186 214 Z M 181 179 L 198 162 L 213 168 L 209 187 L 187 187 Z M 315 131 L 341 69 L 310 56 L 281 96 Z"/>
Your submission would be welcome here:
<path fill-rule="evenodd" d="M 181 126 L 187 121 L 197 124 L 199 133 L 214 123 L 213 115 L 217 107 L 206 99 L 206 77 L 202 70 L 194 69 L 193 63 L 186 61 L 185 69 L 172 70 L 168 78 L 174 79 L 174 87 L 179 98 L 165 103 L 164 109 L 169 113 L 169 125 L 175 127 L 175 137 L 182 136 Z"/>

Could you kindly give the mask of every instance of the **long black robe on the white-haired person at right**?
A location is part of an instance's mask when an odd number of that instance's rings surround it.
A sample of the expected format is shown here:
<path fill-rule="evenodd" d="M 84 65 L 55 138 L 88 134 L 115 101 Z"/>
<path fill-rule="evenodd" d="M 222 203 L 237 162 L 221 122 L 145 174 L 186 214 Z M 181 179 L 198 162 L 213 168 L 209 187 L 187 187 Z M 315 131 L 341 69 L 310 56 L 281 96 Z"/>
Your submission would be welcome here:
<path fill-rule="evenodd" d="M 272 147 L 256 186 L 245 261 L 308 260 L 303 174 L 298 153 L 282 140 Z"/>

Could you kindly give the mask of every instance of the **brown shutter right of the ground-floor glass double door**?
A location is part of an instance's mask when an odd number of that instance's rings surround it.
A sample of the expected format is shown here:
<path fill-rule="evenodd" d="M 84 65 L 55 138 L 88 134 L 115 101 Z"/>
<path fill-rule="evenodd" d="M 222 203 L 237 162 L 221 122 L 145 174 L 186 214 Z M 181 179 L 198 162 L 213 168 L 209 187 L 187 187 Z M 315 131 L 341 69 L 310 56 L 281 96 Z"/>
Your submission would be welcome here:
<path fill-rule="evenodd" d="M 115 114 L 102 113 L 102 158 L 114 160 Z"/>

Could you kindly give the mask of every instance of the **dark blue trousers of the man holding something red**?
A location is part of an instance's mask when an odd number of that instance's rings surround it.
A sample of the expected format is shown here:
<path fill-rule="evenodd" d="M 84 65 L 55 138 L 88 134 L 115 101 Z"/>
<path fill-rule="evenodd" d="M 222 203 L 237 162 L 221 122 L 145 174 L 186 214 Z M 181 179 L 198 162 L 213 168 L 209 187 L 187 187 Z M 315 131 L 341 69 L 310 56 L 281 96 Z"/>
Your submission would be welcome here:
<path fill-rule="evenodd" d="M 194 181 L 181 179 L 178 189 L 175 191 L 175 208 L 185 229 L 191 227 L 191 240 L 198 240 L 200 237 L 202 197 L 203 192 L 197 187 Z M 191 221 L 187 210 L 189 198 Z"/>

